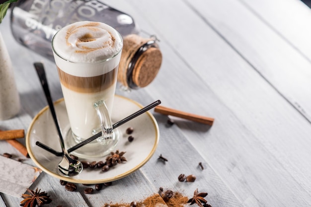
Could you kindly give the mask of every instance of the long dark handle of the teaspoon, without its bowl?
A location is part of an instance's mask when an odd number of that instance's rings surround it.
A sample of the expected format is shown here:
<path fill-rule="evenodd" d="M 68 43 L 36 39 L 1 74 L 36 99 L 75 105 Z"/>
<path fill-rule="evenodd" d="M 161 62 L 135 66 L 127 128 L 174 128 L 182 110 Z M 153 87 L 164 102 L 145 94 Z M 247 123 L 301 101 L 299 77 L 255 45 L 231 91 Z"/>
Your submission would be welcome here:
<path fill-rule="evenodd" d="M 47 102 L 49 104 L 50 111 L 51 111 L 51 114 L 53 116 L 53 120 L 55 122 L 55 125 L 56 125 L 56 128 L 57 128 L 57 132 L 58 132 L 58 135 L 59 135 L 59 138 L 60 138 L 60 141 L 61 141 L 62 151 L 64 152 L 64 150 L 65 150 L 64 139 L 63 139 L 63 136 L 62 136 L 61 129 L 59 127 L 58 119 L 56 117 L 56 112 L 55 112 L 55 109 L 54 109 L 51 93 L 50 93 L 50 90 L 49 90 L 49 85 L 48 85 L 47 78 L 46 78 L 46 75 L 45 75 L 44 66 L 43 66 L 43 64 L 41 62 L 35 62 L 33 65 L 34 65 L 34 67 L 35 67 L 35 69 L 37 71 L 37 74 L 38 74 L 38 77 L 40 79 L 40 83 L 41 83 L 41 86 L 43 88 L 46 100 L 47 100 Z"/>

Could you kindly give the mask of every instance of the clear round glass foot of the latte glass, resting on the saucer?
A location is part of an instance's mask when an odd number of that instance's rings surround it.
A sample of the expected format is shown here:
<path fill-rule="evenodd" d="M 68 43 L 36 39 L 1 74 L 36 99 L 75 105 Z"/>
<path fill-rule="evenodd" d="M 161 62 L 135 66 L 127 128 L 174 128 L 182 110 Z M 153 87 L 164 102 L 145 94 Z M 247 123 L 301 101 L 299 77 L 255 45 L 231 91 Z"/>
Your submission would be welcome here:
<path fill-rule="evenodd" d="M 65 146 L 67 149 L 70 149 L 71 147 L 83 141 L 82 139 L 76 139 L 76 136 L 73 135 L 71 128 L 66 131 L 67 133 L 65 134 Z M 97 140 L 94 140 L 90 143 L 87 143 L 83 147 L 80 147 L 74 152 L 71 152 L 70 154 L 76 155 L 79 158 L 97 158 L 108 155 L 116 148 L 121 136 L 122 135 L 120 131 L 118 129 L 114 129 L 112 141 L 108 145 L 102 145 L 97 142 Z"/>

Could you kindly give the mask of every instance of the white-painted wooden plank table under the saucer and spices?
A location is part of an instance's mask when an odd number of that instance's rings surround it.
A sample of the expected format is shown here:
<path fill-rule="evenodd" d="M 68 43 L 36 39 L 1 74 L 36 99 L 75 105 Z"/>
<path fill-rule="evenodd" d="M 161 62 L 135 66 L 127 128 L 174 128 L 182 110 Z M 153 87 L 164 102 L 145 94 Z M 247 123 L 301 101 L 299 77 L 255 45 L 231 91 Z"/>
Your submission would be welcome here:
<path fill-rule="evenodd" d="M 131 203 L 159 187 L 191 198 L 207 192 L 213 207 L 311 206 L 311 10 L 300 0 L 106 0 L 160 39 L 163 62 L 148 87 L 118 94 L 211 116 L 208 127 L 153 112 L 160 141 L 142 168 L 94 195 L 69 192 L 42 173 L 31 186 L 46 191 L 46 206 L 102 207 Z M 18 45 L 9 15 L 0 25 L 13 60 L 22 109 L 0 129 L 27 130 L 45 105 L 33 62 L 49 68 L 53 98 L 62 98 L 55 64 Z M 24 143 L 24 140 L 20 140 Z M 6 142 L 0 154 L 20 158 Z M 168 161 L 158 161 L 162 154 Z M 32 160 L 24 161 L 34 164 Z M 204 170 L 198 167 L 202 162 Z M 179 174 L 195 174 L 180 183 Z M 0 194 L 0 206 L 21 198 Z M 195 206 L 195 205 L 193 205 Z"/>

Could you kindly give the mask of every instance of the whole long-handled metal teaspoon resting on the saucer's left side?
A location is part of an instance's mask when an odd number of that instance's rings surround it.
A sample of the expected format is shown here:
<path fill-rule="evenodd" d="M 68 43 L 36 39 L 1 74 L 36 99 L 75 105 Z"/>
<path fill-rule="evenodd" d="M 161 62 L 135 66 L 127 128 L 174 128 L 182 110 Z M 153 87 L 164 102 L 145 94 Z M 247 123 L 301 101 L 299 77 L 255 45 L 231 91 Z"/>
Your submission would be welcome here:
<path fill-rule="evenodd" d="M 53 116 L 53 120 L 55 122 L 57 132 L 59 135 L 59 139 L 60 139 L 60 143 L 61 143 L 61 147 L 62 147 L 63 158 L 60 161 L 60 163 L 58 164 L 58 171 L 60 174 L 62 174 L 63 176 L 66 176 L 66 177 L 78 175 L 82 171 L 83 166 L 82 166 L 82 163 L 80 161 L 71 158 L 67 152 L 67 149 L 65 148 L 64 139 L 62 136 L 62 132 L 61 132 L 59 123 L 58 123 L 58 119 L 56 117 L 52 97 L 50 94 L 47 78 L 45 75 L 44 66 L 41 62 L 35 62 L 34 66 L 36 68 L 38 77 L 40 79 L 41 86 L 43 88 L 46 100 L 49 104 L 50 111 L 51 111 L 51 114 Z"/>

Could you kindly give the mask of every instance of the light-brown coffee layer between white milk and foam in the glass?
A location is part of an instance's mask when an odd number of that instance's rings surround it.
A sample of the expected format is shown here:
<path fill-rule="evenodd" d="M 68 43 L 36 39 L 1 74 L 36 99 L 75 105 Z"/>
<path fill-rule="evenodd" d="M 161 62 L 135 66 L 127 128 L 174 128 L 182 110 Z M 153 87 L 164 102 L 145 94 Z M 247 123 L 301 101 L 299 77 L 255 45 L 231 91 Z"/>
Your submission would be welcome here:
<path fill-rule="evenodd" d="M 93 77 L 78 77 L 57 67 L 60 81 L 66 88 L 78 93 L 96 93 L 112 86 L 117 80 L 118 66 L 108 73 Z"/>

